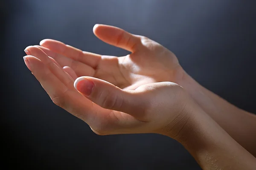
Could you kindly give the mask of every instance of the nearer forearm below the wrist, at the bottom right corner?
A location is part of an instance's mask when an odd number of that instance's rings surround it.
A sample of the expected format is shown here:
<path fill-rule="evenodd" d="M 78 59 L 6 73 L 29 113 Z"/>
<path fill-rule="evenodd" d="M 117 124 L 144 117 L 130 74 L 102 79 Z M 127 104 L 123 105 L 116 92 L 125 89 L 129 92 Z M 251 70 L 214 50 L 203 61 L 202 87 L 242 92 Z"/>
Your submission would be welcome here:
<path fill-rule="evenodd" d="M 188 122 L 177 139 L 204 170 L 255 170 L 256 158 L 204 111 Z"/>

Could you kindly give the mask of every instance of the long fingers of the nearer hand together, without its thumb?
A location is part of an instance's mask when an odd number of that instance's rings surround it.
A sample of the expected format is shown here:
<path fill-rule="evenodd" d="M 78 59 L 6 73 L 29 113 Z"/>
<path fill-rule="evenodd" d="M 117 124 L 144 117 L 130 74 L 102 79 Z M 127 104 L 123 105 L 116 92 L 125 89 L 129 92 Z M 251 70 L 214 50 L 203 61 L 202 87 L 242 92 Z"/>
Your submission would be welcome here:
<path fill-rule="evenodd" d="M 41 83 L 52 101 L 85 122 L 92 122 L 99 106 L 76 91 L 73 88 L 73 80 L 68 74 L 47 59 L 46 54 L 39 48 L 30 46 L 26 48 L 26 53 L 30 54 L 23 57 L 27 67 Z"/>

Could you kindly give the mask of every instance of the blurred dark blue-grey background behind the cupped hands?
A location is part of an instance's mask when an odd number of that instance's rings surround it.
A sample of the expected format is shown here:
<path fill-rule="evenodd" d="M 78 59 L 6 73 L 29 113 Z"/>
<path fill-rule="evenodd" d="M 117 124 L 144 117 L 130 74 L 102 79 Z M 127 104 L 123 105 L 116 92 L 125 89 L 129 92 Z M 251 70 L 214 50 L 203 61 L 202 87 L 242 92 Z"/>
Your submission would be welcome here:
<path fill-rule="evenodd" d="M 94 134 L 52 103 L 26 68 L 23 50 L 51 38 L 84 51 L 126 55 L 92 32 L 96 23 L 117 26 L 166 46 L 201 85 L 256 113 L 255 6 L 254 0 L 0 0 L 0 166 L 200 170 L 166 136 Z"/>

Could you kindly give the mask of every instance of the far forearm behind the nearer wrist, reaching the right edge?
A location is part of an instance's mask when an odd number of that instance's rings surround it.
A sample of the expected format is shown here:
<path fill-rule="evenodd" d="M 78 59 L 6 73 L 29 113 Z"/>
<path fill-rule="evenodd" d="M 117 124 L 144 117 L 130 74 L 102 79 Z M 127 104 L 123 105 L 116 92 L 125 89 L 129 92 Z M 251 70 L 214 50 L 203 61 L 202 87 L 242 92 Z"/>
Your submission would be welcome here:
<path fill-rule="evenodd" d="M 256 156 L 256 115 L 243 111 L 199 85 L 184 73 L 179 85 L 209 116 L 250 153 Z"/>

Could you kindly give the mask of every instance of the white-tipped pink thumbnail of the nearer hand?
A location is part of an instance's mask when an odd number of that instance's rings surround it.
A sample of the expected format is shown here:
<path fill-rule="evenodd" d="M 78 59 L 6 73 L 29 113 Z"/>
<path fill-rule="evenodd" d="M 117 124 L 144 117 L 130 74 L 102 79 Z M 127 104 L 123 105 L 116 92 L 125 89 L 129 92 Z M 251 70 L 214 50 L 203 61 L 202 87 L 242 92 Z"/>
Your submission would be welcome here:
<path fill-rule="evenodd" d="M 89 79 L 79 77 L 74 82 L 74 86 L 80 93 L 84 94 L 85 96 L 89 96 L 93 91 L 95 84 Z"/>

